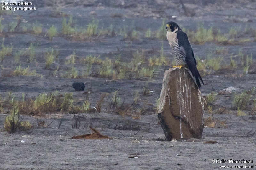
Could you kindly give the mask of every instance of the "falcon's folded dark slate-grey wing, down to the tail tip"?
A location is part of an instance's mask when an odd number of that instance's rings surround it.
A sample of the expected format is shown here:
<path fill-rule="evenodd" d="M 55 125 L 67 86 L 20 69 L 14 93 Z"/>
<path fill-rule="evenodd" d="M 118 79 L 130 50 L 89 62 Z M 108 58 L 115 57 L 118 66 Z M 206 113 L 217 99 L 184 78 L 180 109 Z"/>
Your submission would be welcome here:
<path fill-rule="evenodd" d="M 185 54 L 185 62 L 188 66 L 188 69 L 191 71 L 192 75 L 195 77 L 196 79 L 196 84 L 198 86 L 198 88 L 201 87 L 201 83 L 200 83 L 200 80 L 201 82 L 203 83 L 204 85 L 204 82 L 197 70 L 197 63 L 196 63 L 196 59 L 195 59 L 195 56 L 194 56 L 194 53 L 193 53 L 193 50 L 192 50 L 192 47 L 188 41 L 188 36 L 186 33 L 184 33 L 182 30 L 179 30 L 177 32 L 177 40 L 178 40 L 178 43 L 179 43 L 179 46 L 180 48 L 183 48 L 184 51 L 186 54 Z"/>

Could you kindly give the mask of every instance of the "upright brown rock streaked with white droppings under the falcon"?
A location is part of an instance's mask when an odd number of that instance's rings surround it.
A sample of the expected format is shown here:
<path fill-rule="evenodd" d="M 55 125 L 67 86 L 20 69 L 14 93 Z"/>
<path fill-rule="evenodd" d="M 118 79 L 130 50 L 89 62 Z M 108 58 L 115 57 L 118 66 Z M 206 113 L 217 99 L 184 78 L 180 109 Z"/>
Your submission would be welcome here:
<path fill-rule="evenodd" d="M 158 118 L 167 141 L 201 139 L 206 102 L 188 70 L 172 68 L 164 72 Z"/>

